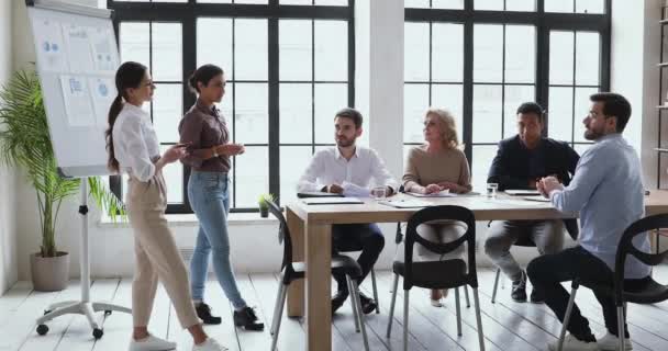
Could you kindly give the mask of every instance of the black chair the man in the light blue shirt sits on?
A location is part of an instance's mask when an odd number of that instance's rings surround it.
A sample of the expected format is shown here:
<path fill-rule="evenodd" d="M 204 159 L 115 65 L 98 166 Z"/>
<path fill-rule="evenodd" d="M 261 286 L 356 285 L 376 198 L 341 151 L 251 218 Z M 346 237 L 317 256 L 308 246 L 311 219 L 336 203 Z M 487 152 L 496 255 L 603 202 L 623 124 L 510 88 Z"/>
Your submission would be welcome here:
<path fill-rule="evenodd" d="M 634 304 L 656 304 L 668 299 L 668 285 L 661 285 L 657 283 L 652 276 L 649 276 L 647 284 L 638 286 L 633 290 L 624 288 L 624 263 L 626 263 L 626 257 L 633 256 L 641 262 L 647 265 L 658 265 L 664 262 L 668 257 L 668 250 L 661 253 L 646 253 L 633 246 L 633 238 L 653 229 L 668 228 L 668 214 L 660 214 L 648 216 L 634 222 L 622 235 L 620 245 L 617 247 L 617 253 L 615 256 L 614 264 L 614 279 L 613 286 L 601 286 L 592 284 L 581 280 L 574 280 L 570 291 L 570 299 L 568 301 L 568 307 L 566 308 L 566 316 L 564 317 L 564 325 L 561 326 L 561 333 L 559 335 L 559 348 L 560 351 L 564 347 L 564 337 L 566 336 L 566 327 L 570 320 L 570 313 L 576 299 L 576 293 L 580 285 L 584 285 L 593 291 L 603 292 L 614 295 L 615 306 L 617 308 L 617 337 L 620 339 L 620 346 L 617 350 L 624 351 L 624 321 L 626 320 L 626 303 Z"/>

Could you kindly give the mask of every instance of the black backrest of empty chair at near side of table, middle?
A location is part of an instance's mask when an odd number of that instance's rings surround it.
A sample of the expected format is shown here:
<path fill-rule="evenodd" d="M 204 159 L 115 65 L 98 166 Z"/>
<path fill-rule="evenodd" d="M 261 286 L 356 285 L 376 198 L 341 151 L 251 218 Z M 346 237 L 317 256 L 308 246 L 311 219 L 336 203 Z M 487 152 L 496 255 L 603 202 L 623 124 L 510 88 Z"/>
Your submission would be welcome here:
<path fill-rule="evenodd" d="M 433 242 L 417 234 L 417 226 L 433 220 L 458 220 L 463 222 L 467 229 L 466 233 L 459 238 L 449 242 Z M 478 279 L 476 274 L 476 217 L 474 213 L 461 206 L 432 206 L 415 212 L 410 218 L 405 233 L 404 240 L 404 286 L 410 287 L 412 285 L 413 275 L 413 247 L 415 244 L 422 245 L 427 250 L 445 254 L 454 251 L 464 242 L 467 242 L 468 249 L 468 269 L 467 280 L 474 287 L 478 287 Z"/>

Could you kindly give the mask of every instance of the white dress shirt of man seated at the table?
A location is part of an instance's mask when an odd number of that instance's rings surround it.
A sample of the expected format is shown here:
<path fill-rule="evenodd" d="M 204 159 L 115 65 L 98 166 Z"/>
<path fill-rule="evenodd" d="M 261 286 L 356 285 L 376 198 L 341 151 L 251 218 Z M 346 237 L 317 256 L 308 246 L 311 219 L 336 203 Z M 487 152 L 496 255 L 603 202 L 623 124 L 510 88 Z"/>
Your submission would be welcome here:
<path fill-rule="evenodd" d="M 355 155 L 346 160 L 338 147 L 333 147 L 313 155 L 311 163 L 299 179 L 297 191 L 321 191 L 323 186 L 342 185 L 344 182 L 368 189 L 371 180 L 376 186 L 392 188 L 392 192 L 399 189 L 399 183 L 375 150 L 357 146 Z"/>

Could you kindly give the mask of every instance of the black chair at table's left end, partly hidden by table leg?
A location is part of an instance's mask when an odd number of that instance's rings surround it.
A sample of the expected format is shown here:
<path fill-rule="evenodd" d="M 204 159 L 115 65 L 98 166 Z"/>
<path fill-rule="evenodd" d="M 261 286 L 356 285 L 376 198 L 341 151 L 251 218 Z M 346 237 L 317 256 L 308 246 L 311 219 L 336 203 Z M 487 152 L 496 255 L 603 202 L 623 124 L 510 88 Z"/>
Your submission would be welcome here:
<path fill-rule="evenodd" d="M 288 292 L 288 285 L 296 280 L 303 279 L 305 275 L 305 263 L 304 262 L 292 262 L 292 239 L 290 237 L 290 229 L 288 228 L 288 222 L 283 216 L 280 207 L 271 201 L 267 201 L 269 205 L 269 212 L 278 218 L 280 226 L 278 229 L 278 241 L 283 244 L 283 259 L 281 263 L 280 272 L 280 286 L 278 288 L 278 296 L 276 298 L 276 306 L 274 307 L 274 318 L 271 319 L 271 351 L 276 350 L 276 343 L 278 341 L 278 332 L 280 330 L 280 322 L 283 315 L 283 307 L 286 305 L 286 297 Z M 359 287 L 357 286 L 357 280 L 361 276 L 361 268 L 357 264 L 357 261 L 347 256 L 334 256 L 332 257 L 332 272 L 344 273 L 346 275 L 346 282 L 348 283 L 348 291 L 352 295 L 353 314 L 355 319 L 355 329 L 361 330 L 361 337 L 364 340 L 365 350 L 369 350 L 369 341 L 367 339 L 367 331 L 365 328 L 361 302 L 359 301 Z"/>

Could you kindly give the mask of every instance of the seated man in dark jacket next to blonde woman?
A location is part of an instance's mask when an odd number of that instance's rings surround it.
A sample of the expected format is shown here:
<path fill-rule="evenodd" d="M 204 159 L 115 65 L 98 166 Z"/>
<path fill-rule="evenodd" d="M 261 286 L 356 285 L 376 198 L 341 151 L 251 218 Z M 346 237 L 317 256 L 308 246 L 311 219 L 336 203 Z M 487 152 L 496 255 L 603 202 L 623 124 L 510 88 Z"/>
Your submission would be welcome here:
<path fill-rule="evenodd" d="M 488 183 L 498 183 L 499 190 L 535 190 L 536 181 L 553 176 L 564 184 L 570 182 L 579 160 L 568 144 L 543 137 L 545 114 L 534 102 L 517 109 L 517 135 L 499 143 L 497 157 L 489 170 Z M 566 227 L 577 236 L 577 222 L 568 219 Z M 553 220 L 497 220 L 491 224 L 485 252 L 503 273 L 513 281 L 511 297 L 526 302 L 526 273 L 520 268 L 510 248 L 519 239 L 531 239 L 541 254 L 556 253 L 564 247 L 564 222 Z M 543 294 L 535 288 L 532 303 L 543 303 Z"/>

